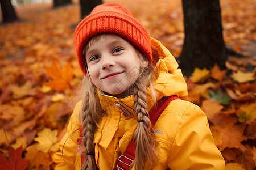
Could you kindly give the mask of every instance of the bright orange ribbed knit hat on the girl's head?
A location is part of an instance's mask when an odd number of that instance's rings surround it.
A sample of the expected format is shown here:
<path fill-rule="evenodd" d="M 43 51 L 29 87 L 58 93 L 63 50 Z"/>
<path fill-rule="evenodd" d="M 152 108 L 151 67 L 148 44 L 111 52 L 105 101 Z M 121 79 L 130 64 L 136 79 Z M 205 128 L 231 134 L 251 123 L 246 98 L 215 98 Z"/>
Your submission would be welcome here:
<path fill-rule="evenodd" d="M 131 12 L 119 3 L 106 3 L 93 9 L 90 15 L 83 19 L 75 31 L 75 48 L 79 65 L 84 74 L 85 55 L 82 53 L 86 42 L 99 33 L 115 33 L 122 36 L 147 57 L 152 63 L 150 36 Z"/>

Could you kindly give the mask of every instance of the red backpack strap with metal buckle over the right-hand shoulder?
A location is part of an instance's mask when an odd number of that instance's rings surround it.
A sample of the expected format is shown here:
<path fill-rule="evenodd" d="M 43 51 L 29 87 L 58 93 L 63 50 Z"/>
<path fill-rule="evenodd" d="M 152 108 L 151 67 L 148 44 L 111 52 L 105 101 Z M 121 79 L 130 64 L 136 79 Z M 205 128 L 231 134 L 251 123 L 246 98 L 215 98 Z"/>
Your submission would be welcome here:
<path fill-rule="evenodd" d="M 177 96 L 167 96 L 162 97 L 162 99 L 158 100 L 154 107 L 148 113 L 148 116 L 151 121 L 151 128 L 154 127 L 156 121 L 167 107 L 167 105 L 175 99 L 180 99 Z M 121 170 L 129 170 L 133 160 L 135 159 L 135 143 L 131 141 L 126 148 L 126 151 L 118 158 L 116 169 Z"/>

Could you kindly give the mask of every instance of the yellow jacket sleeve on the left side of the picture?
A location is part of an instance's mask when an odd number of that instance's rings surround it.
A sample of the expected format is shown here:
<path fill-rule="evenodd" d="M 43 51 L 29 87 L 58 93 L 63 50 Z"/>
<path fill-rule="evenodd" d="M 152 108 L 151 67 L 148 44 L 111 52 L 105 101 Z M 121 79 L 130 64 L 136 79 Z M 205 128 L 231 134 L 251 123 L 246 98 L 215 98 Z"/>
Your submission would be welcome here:
<path fill-rule="evenodd" d="M 79 169 L 81 166 L 81 159 L 77 152 L 77 139 L 80 134 L 80 122 L 78 120 L 78 113 L 80 104 L 76 107 L 69 118 L 67 132 L 60 141 L 59 151 L 53 154 L 52 159 L 57 165 L 55 170 L 71 170 Z"/>

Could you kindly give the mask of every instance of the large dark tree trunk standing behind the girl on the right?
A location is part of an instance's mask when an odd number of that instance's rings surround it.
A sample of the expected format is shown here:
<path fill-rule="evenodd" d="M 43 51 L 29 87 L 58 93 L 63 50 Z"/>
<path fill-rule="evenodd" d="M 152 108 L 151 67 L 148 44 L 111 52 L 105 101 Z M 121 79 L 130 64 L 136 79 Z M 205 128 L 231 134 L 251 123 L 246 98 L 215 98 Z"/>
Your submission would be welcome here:
<path fill-rule="evenodd" d="M 210 69 L 217 63 L 225 69 L 227 60 L 222 37 L 219 0 L 183 0 L 185 40 L 180 67 L 191 74 L 195 67 Z"/>

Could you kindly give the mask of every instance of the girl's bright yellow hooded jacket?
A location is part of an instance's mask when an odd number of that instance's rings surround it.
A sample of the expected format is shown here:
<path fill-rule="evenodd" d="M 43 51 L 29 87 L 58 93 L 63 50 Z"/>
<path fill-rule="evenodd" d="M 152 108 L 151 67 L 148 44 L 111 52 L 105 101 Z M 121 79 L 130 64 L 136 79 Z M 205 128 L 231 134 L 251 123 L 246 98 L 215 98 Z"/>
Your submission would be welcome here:
<path fill-rule="evenodd" d="M 158 78 L 153 80 L 158 100 L 171 95 L 183 99 L 171 101 L 154 126 L 158 161 L 153 169 L 225 169 L 224 159 L 214 145 L 207 117 L 197 105 L 185 101 L 187 85 L 175 58 L 159 41 L 151 41 L 154 57 L 162 58 L 156 63 Z M 154 105 L 149 93 L 148 111 Z M 138 124 L 134 97 L 117 99 L 100 92 L 98 95 L 102 110 L 106 113 L 98 122 L 100 128 L 94 134 L 96 164 L 100 170 L 113 169 L 119 155 L 129 145 Z M 125 107 L 131 116 L 123 116 L 116 103 Z M 80 108 L 81 102 L 76 105 L 69 120 L 67 133 L 60 142 L 60 151 L 53 155 L 57 163 L 56 170 L 78 170 L 81 167 L 76 142 L 80 132 L 77 118 Z"/>

